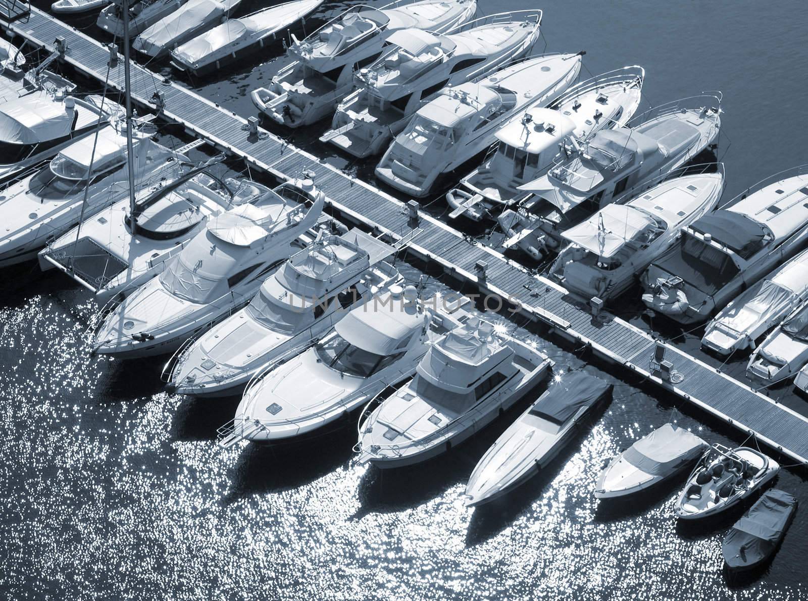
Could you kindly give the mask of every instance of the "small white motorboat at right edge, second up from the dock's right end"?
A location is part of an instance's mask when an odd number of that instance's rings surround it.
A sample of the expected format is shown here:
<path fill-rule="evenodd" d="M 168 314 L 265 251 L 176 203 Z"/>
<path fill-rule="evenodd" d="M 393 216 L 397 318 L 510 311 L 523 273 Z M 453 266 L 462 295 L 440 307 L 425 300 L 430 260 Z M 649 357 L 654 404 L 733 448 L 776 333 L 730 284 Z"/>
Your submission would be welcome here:
<path fill-rule="evenodd" d="M 772 385 L 808 364 L 808 302 L 802 303 L 755 348 L 747 365 L 751 380 Z"/>

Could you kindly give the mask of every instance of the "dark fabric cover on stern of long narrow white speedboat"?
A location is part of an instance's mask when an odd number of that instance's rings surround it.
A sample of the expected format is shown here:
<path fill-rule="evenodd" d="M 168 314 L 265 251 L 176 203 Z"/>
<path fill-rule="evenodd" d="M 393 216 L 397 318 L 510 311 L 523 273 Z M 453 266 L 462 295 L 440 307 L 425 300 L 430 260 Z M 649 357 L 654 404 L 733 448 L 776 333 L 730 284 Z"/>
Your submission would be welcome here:
<path fill-rule="evenodd" d="M 530 408 L 530 413 L 561 424 L 579 409 L 594 405 L 611 389 L 611 384 L 587 372 L 569 372 L 549 385 Z"/>

